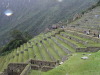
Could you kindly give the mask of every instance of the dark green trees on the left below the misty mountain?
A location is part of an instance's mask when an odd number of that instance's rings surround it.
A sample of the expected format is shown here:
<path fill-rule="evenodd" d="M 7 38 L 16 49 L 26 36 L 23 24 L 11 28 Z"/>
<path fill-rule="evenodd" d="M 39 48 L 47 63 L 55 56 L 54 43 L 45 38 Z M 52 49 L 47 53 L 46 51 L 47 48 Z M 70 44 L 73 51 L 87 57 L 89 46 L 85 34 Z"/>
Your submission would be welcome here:
<path fill-rule="evenodd" d="M 13 49 L 20 47 L 23 43 L 26 43 L 29 39 L 31 39 L 31 35 L 29 35 L 27 32 L 22 33 L 19 30 L 13 30 L 11 32 L 12 40 L 1 48 L 0 52 L 1 55 L 7 54 L 11 52 Z"/>

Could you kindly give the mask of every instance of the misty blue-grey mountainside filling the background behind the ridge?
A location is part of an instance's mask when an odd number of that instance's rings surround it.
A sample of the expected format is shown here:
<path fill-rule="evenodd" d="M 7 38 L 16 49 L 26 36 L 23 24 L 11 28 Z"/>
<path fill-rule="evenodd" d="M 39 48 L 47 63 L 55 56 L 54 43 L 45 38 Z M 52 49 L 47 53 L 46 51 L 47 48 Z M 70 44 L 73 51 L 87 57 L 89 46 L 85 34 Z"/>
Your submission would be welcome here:
<path fill-rule="evenodd" d="M 0 44 L 10 38 L 10 31 L 18 29 L 33 36 L 59 21 L 67 21 L 98 0 L 0 0 Z M 13 14 L 6 16 L 4 12 Z"/>

